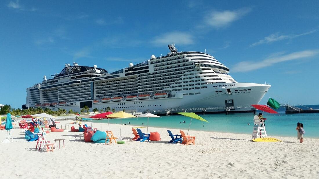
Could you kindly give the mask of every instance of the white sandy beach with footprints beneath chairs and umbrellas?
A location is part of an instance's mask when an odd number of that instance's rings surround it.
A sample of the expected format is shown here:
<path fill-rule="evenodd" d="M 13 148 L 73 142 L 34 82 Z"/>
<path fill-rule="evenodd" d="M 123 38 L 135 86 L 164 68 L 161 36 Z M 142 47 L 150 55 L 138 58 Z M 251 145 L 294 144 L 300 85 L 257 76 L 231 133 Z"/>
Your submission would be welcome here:
<path fill-rule="evenodd" d="M 60 122 L 69 125 L 69 130 L 73 125 L 71 121 Z M 106 127 L 103 124 L 104 131 Z M 125 144 L 110 145 L 80 141 L 80 132 L 51 132 L 47 135 L 51 142 L 66 139 L 65 148 L 56 148 L 53 153 L 36 151 L 36 141 L 26 142 L 25 129 L 16 127 L 15 142 L 0 144 L 0 178 L 319 177 L 319 139 L 307 139 L 307 135 L 300 144 L 297 137 L 277 137 L 283 142 L 253 142 L 247 134 L 190 131 L 196 136 L 196 145 L 185 146 L 167 144 L 170 137 L 166 129 L 155 127 L 148 130 L 159 132 L 162 141 L 130 141 L 131 127 L 122 125 Z M 93 123 L 93 128 L 100 130 L 101 124 Z M 141 129 L 146 132 L 146 128 Z M 109 130 L 119 137 L 119 125 L 110 124 Z M 171 131 L 179 134 L 177 129 Z M 1 141 L 5 134 L 0 130 Z"/>

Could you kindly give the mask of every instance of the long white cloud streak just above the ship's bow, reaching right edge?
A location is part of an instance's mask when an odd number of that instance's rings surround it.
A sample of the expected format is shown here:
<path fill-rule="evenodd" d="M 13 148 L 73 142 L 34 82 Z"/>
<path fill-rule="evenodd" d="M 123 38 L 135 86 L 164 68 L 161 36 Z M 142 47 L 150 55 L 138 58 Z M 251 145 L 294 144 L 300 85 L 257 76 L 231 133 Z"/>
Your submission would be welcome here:
<path fill-rule="evenodd" d="M 272 66 L 276 63 L 290 61 L 290 60 L 297 60 L 297 59 L 304 59 L 308 57 L 313 57 L 319 53 L 318 50 L 305 50 L 300 52 L 293 52 L 286 55 L 278 55 L 269 57 L 262 61 L 242 61 L 236 65 L 232 69 L 232 72 L 249 72 L 257 69 L 261 69 L 267 66 Z"/>

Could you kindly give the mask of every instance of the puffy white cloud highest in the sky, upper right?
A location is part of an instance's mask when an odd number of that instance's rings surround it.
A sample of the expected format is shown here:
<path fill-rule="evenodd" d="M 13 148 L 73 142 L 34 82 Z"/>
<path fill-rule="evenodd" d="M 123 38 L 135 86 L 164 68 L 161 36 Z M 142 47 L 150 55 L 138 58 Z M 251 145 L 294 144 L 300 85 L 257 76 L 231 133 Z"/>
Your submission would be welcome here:
<path fill-rule="evenodd" d="M 232 22 L 240 19 L 244 15 L 248 14 L 251 8 L 242 8 L 239 10 L 225 10 L 225 11 L 213 11 L 206 15 L 205 23 L 208 26 L 215 28 L 228 26 Z"/>

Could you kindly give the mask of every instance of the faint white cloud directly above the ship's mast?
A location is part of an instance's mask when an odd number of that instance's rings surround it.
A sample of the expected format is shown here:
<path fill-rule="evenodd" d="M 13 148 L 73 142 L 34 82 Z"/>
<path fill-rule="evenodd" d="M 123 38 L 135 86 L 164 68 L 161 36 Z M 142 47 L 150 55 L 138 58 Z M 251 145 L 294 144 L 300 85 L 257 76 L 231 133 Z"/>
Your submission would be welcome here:
<path fill-rule="evenodd" d="M 155 46 L 177 43 L 178 45 L 194 44 L 193 36 L 188 32 L 168 32 L 160 36 L 156 36 L 151 42 Z"/>

